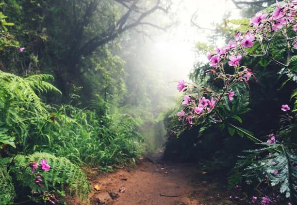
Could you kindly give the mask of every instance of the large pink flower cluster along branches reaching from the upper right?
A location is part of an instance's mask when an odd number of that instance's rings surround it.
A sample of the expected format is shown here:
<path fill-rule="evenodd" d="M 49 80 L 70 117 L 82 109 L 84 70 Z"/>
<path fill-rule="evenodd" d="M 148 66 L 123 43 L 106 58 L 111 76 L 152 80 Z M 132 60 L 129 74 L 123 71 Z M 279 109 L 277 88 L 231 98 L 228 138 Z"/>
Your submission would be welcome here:
<path fill-rule="evenodd" d="M 231 89 L 232 86 L 238 82 L 247 82 L 251 77 L 254 77 L 256 73 L 253 73 L 250 68 L 240 64 L 240 61 L 244 57 L 258 57 L 267 56 L 272 61 L 281 64 L 281 62 L 273 59 L 269 56 L 269 46 L 273 37 L 280 33 L 282 34 L 290 45 L 297 44 L 297 36 L 289 38 L 285 33 L 285 29 L 293 29 L 297 31 L 297 0 L 289 0 L 286 5 L 281 5 L 277 1 L 277 6 L 274 12 L 271 14 L 258 12 L 254 17 L 250 19 L 250 29 L 243 33 L 238 31 L 234 35 L 234 39 L 229 41 L 223 47 L 216 46 L 214 51 L 207 54 L 209 65 L 212 67 L 206 73 L 212 73 L 214 80 L 220 79 L 224 83 L 224 89 L 220 93 L 212 92 L 210 99 L 206 99 L 209 93 L 206 91 L 198 94 L 186 94 L 183 97 L 182 105 L 185 108 L 178 112 L 178 119 L 185 119 L 185 122 L 193 124 L 194 118 L 203 116 L 202 114 L 208 114 L 215 109 L 215 105 L 220 103 L 223 95 L 227 95 L 230 101 L 234 100 L 235 92 Z M 284 29 L 285 28 L 285 29 Z M 258 42 L 263 51 L 263 55 L 251 55 L 249 53 L 250 47 Z M 264 42 L 267 43 L 264 49 Z M 233 74 L 229 74 L 225 71 L 224 66 L 229 65 L 233 69 Z M 186 86 L 183 80 L 178 81 L 177 89 L 181 91 L 191 90 L 191 86 Z M 202 89 L 202 88 L 201 88 Z M 216 99 L 216 100 L 214 100 Z M 281 110 L 288 111 L 290 107 L 288 105 L 282 105 Z M 271 137 L 267 142 L 274 143 L 275 138 Z"/>

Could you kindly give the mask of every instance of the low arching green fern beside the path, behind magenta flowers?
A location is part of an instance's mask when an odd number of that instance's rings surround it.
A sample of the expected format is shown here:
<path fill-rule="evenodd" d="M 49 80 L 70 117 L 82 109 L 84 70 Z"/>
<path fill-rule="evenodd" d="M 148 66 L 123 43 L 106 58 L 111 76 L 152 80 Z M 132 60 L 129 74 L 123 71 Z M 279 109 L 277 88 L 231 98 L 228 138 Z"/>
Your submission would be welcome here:
<path fill-rule="evenodd" d="M 28 168 L 30 161 L 41 161 L 47 159 L 51 168 L 48 172 L 43 173 L 44 184 L 47 190 L 54 189 L 64 194 L 65 185 L 69 187 L 70 193 L 80 197 L 80 199 L 88 199 L 89 182 L 83 171 L 77 165 L 74 165 L 64 157 L 55 157 L 45 152 L 35 152 L 32 155 L 17 155 L 14 159 L 15 165 L 11 172 L 16 176 L 17 182 L 21 187 L 30 187 L 34 178 L 30 178 L 31 169 Z M 40 190 L 38 185 L 34 186 L 35 190 Z"/>

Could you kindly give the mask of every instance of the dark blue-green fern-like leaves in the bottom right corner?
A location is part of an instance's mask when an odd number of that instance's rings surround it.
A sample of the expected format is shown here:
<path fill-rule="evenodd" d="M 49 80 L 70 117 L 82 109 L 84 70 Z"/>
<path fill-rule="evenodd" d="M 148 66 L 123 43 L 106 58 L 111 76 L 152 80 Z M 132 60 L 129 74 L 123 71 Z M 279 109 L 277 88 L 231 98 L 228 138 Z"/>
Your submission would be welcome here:
<path fill-rule="evenodd" d="M 271 186 L 279 185 L 280 192 L 287 198 L 296 200 L 297 197 L 297 156 L 282 144 L 261 143 L 263 148 L 250 149 L 244 152 L 233 168 L 229 177 L 229 188 L 241 183 L 242 177 L 246 182 L 267 178 Z M 259 159 L 261 157 L 261 159 Z"/>

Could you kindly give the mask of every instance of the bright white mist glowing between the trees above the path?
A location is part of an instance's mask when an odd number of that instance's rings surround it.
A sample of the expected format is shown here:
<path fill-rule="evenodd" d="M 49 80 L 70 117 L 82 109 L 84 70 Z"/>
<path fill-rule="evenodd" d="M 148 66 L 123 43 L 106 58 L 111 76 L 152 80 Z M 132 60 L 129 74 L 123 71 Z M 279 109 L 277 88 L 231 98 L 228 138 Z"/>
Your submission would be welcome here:
<path fill-rule="evenodd" d="M 148 16 L 146 21 L 160 28 L 143 25 L 141 29 L 129 31 L 129 35 L 121 39 L 125 49 L 119 55 L 126 61 L 128 92 L 145 90 L 148 93 L 147 103 L 135 103 L 129 97 L 124 104 L 148 109 L 157 120 L 144 129 L 147 143 L 152 146 L 150 151 L 163 146 L 166 141 L 165 128 L 159 115 L 172 109 L 181 97 L 176 89 L 177 81 L 188 82 L 194 63 L 197 60 L 207 61 L 206 56 L 196 53 L 196 43 L 208 43 L 215 24 L 222 23 L 226 18 L 239 17 L 240 11 L 231 0 L 174 0 L 167 14 L 155 12 Z M 225 40 L 218 39 L 216 43 L 224 44 Z M 140 84 L 144 87 L 142 91 L 138 89 Z M 141 98 L 140 93 L 134 98 L 138 97 Z M 157 128 L 154 128 L 156 125 Z"/>

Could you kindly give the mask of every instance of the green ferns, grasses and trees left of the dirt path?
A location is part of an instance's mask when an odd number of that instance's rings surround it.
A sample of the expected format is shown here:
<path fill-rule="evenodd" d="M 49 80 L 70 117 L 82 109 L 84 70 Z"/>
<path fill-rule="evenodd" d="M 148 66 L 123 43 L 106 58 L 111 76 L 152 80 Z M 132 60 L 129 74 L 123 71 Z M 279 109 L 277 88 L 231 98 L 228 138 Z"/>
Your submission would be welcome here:
<path fill-rule="evenodd" d="M 129 15 L 143 5 L 0 3 L 0 204 L 59 203 L 67 193 L 88 202 L 82 168 L 112 171 L 158 148 L 155 133 L 164 128 L 148 100 L 153 90 L 132 95 L 140 82 L 128 76 L 138 68 L 123 59 L 132 50 L 118 53 L 119 36 L 139 24 Z M 145 8 L 149 15 L 162 7 Z"/>

